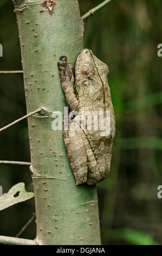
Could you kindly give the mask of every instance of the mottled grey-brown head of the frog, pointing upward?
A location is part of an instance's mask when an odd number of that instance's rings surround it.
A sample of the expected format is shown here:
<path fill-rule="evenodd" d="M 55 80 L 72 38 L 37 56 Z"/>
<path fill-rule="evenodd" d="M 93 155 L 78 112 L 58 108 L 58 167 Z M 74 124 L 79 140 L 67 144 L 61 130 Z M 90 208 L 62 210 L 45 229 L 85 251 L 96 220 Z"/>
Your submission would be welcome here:
<path fill-rule="evenodd" d="M 93 52 L 89 49 L 81 51 L 76 60 L 75 78 L 77 89 L 83 89 L 99 79 L 102 75 L 107 76 L 108 66 L 96 58 Z"/>

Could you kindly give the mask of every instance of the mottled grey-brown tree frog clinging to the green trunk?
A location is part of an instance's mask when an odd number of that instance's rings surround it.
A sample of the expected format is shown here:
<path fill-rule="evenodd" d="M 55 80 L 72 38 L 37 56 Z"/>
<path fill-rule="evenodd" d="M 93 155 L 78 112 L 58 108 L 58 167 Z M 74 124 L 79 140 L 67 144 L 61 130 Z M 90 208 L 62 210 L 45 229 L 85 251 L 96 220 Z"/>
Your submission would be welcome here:
<path fill-rule="evenodd" d="M 77 58 L 75 78 L 73 66 L 67 64 L 66 56 L 61 56 L 57 65 L 68 107 L 70 111 L 78 112 L 69 129 L 63 130 L 69 163 L 76 185 L 94 185 L 109 173 L 115 136 L 115 117 L 107 81 L 108 66 L 88 49 L 84 49 Z M 91 113 L 94 117 L 91 118 L 93 124 L 90 129 L 88 121 L 85 121 L 87 119 L 82 118 L 83 113 Z M 96 129 L 97 126 L 99 129 Z"/>

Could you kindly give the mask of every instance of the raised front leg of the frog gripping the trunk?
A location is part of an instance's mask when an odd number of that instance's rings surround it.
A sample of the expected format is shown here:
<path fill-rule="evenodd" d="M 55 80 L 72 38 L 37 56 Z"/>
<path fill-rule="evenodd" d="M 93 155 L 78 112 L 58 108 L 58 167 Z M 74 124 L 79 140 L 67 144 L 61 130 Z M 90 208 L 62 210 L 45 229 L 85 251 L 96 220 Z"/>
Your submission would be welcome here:
<path fill-rule="evenodd" d="M 75 78 L 73 75 L 73 65 L 67 64 L 66 56 L 61 56 L 60 62 L 57 65 L 59 67 L 61 87 L 66 96 L 68 107 L 70 111 L 79 111 L 79 101 L 74 92 Z"/>

